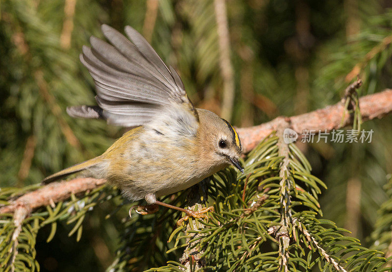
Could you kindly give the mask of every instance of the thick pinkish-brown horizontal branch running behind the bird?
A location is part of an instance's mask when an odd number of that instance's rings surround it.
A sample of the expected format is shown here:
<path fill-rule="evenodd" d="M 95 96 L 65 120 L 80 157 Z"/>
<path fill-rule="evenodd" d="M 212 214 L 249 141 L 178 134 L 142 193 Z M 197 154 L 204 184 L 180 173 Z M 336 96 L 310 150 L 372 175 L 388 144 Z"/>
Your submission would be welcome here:
<path fill-rule="evenodd" d="M 392 90 L 387 89 L 380 93 L 362 97 L 360 99 L 360 105 L 363 121 L 382 118 L 392 112 Z M 339 102 L 335 105 L 298 116 L 278 117 L 268 123 L 238 128 L 237 131 L 240 135 L 244 152 L 246 153 L 266 138 L 272 131 L 276 130 L 282 119 L 288 122 L 289 127 L 297 133 L 301 133 L 305 129 L 316 130 L 316 132 L 319 130 L 324 131 L 325 129 L 330 131 L 342 127 L 343 113 L 345 114 L 343 126 L 350 124 L 350 116 L 344 111 L 344 104 Z M 75 178 L 70 181 L 51 183 L 36 191 L 26 193 L 24 196 L 11 201 L 9 205 L 1 207 L 0 214 L 13 213 L 18 205 L 28 207 L 28 210 L 32 211 L 36 208 L 65 200 L 71 194 L 92 190 L 103 185 L 105 182 L 104 179 Z"/>

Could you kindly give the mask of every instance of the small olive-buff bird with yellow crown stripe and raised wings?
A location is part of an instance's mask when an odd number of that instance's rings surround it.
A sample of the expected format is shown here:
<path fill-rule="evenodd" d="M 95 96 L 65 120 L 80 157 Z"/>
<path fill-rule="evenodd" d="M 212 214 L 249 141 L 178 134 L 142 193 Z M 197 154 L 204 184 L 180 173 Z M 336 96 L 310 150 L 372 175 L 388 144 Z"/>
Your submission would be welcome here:
<path fill-rule="evenodd" d="M 244 173 L 236 130 L 215 113 L 195 108 L 177 72 L 135 29 L 125 27 L 129 40 L 108 25 L 101 29 L 111 45 L 92 36 L 91 48 L 83 46 L 80 54 L 94 79 L 98 106 L 72 106 L 67 113 L 133 128 L 102 155 L 43 183 L 83 171 L 84 176 L 107 179 L 130 201 L 146 199 L 148 205 L 138 206 L 139 213 L 152 213 L 159 204 L 188 217 L 206 217 L 212 207 L 191 211 L 157 198 L 189 188 L 229 164 Z"/>

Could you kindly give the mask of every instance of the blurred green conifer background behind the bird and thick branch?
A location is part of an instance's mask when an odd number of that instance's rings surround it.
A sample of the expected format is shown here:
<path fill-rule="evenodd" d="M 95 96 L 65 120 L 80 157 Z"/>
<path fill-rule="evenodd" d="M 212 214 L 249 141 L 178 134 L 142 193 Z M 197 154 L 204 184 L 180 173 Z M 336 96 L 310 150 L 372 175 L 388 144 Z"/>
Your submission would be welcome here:
<path fill-rule="evenodd" d="M 391 0 L 2 0 L 0 186 L 38 183 L 101 154 L 123 132 L 65 112 L 95 103 L 78 55 L 91 35 L 102 38 L 103 23 L 136 28 L 177 70 L 197 107 L 244 127 L 337 103 L 354 67 L 361 96 L 391 87 L 390 7 Z M 362 128 L 374 130 L 371 143 L 300 148 L 328 186 L 324 218 L 369 247 L 392 172 L 392 118 Z M 121 222 L 104 220 L 113 209 L 96 209 L 78 243 L 66 225 L 49 244 L 49 228 L 40 231 L 42 270 L 105 269 L 120 237 Z"/>

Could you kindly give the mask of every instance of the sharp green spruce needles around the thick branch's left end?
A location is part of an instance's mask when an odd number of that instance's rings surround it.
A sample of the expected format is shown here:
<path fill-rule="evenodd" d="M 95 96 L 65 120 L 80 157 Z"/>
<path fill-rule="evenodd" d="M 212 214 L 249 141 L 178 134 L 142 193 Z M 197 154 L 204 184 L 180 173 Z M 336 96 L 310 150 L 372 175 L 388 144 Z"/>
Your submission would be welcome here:
<path fill-rule="evenodd" d="M 1 202 L 6 205 L 9 203 L 7 199 L 21 196 L 32 189 L 37 189 L 37 187 L 34 185 L 25 187 L 23 190 L 3 188 L 0 191 Z M 65 222 L 72 225 L 68 236 L 75 235 L 76 241 L 79 241 L 83 230 L 82 223 L 86 214 L 104 201 L 114 200 L 119 204 L 119 196 L 116 192 L 116 190 L 107 188 L 107 186 L 101 186 L 77 197 L 72 194 L 66 201 L 53 203 L 53 206 L 38 209 L 23 221 L 19 235 L 15 234 L 19 230 L 17 230 L 18 226 L 14 222 L 13 214 L 1 214 L 0 268 L 6 271 L 9 270 L 13 263 L 11 260 L 15 257 L 15 269 L 39 271 L 40 267 L 35 260 L 36 251 L 34 248 L 38 230 L 48 224 L 51 226 L 50 234 L 47 238 L 49 243 L 56 233 L 57 223 Z"/>

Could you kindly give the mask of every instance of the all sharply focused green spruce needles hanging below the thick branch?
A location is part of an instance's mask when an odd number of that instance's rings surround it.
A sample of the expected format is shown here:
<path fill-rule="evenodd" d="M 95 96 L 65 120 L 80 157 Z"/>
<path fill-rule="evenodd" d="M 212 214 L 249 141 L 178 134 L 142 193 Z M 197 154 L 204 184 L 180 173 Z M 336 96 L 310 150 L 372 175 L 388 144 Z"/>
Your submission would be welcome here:
<path fill-rule="evenodd" d="M 207 202 L 215 207 L 208 221 L 189 219 L 185 225 L 175 227 L 179 213 L 167 209 L 124 219 L 122 243 L 109 269 L 148 268 L 170 260 L 159 271 L 177 271 L 183 266 L 177 263 L 181 251 L 189 247 L 192 251 L 203 251 L 200 257 L 206 261 L 204 271 L 277 271 L 283 269 L 286 254 L 289 271 L 324 271 L 337 265 L 350 271 L 383 271 L 383 252 L 362 247 L 358 239 L 346 236 L 346 230 L 320 219 L 318 196 L 324 183 L 310 173 L 309 162 L 294 144 L 288 146 L 286 157 L 279 155 L 279 148 L 285 148 L 280 145 L 278 137 L 272 135 L 243 161 L 244 174 L 227 168 L 202 184 L 208 188 Z M 285 184 L 281 183 L 284 160 L 288 160 Z M 1 192 L 1 198 L 20 193 L 21 190 L 7 189 Z M 39 269 L 34 245 L 41 227 L 51 224 L 49 242 L 55 235 L 56 224 L 64 221 L 73 225 L 69 236 L 76 234 L 79 240 L 87 213 L 97 204 L 113 199 L 121 203 L 115 190 L 103 186 L 34 211 L 23 222 L 17 238 L 15 267 Z M 180 205 L 185 201 L 185 193 L 167 200 Z M 15 252 L 10 250 L 15 241 L 9 243 L 14 231 L 12 215 L 3 214 L 0 236 L 3 268 L 13 256 L 9 252 Z M 282 236 L 290 241 L 284 254 L 279 250 Z"/>

